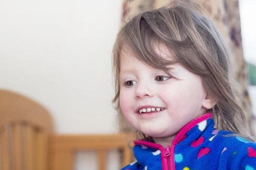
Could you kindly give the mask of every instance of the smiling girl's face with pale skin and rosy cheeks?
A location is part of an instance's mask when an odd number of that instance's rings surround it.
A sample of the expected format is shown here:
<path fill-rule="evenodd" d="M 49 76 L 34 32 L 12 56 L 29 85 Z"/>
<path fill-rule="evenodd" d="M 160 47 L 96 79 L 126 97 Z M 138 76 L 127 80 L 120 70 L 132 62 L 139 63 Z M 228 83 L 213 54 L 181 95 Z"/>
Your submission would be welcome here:
<path fill-rule="evenodd" d="M 205 112 L 206 94 L 199 76 L 172 65 L 170 73 L 179 80 L 169 79 L 164 71 L 125 52 L 121 54 L 120 107 L 136 130 L 153 137 L 175 136 L 181 127 Z M 151 111 L 140 113 L 143 108 Z"/>

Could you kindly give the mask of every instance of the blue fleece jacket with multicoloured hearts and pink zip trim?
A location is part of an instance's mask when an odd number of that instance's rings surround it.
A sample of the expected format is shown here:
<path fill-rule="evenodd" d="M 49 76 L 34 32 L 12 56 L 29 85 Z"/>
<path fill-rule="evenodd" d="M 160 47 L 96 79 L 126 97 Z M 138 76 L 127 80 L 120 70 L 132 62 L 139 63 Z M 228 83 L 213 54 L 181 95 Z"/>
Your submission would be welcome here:
<path fill-rule="evenodd" d="M 171 147 L 134 141 L 137 161 L 122 170 L 256 170 L 256 143 L 218 131 L 211 113 L 192 120 Z"/>

